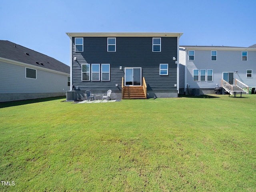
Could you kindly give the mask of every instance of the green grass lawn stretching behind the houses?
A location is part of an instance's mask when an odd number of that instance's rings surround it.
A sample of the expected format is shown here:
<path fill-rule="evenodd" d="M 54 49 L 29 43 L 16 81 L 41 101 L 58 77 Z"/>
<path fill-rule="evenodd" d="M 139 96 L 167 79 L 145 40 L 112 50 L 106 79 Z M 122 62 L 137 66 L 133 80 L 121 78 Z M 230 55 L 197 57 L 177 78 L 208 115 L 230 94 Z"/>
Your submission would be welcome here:
<path fill-rule="evenodd" d="M 0 191 L 256 191 L 256 95 L 0 103 Z"/>

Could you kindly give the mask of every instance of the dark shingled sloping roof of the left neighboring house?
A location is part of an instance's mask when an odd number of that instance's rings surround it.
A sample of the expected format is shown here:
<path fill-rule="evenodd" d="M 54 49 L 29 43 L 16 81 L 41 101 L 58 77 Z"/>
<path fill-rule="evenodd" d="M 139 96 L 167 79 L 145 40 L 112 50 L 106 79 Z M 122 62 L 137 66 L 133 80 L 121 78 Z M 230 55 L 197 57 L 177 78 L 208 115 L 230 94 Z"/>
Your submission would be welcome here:
<path fill-rule="evenodd" d="M 70 66 L 10 41 L 0 40 L 0 57 L 70 74 Z"/>

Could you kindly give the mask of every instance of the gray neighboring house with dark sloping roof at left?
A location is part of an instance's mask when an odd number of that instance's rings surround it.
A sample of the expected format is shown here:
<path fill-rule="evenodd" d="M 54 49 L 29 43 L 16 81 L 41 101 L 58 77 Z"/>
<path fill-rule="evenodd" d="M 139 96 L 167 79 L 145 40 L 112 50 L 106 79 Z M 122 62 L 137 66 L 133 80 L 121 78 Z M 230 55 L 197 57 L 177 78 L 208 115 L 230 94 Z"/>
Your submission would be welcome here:
<path fill-rule="evenodd" d="M 10 41 L 0 40 L 0 102 L 63 96 L 70 67 Z"/>

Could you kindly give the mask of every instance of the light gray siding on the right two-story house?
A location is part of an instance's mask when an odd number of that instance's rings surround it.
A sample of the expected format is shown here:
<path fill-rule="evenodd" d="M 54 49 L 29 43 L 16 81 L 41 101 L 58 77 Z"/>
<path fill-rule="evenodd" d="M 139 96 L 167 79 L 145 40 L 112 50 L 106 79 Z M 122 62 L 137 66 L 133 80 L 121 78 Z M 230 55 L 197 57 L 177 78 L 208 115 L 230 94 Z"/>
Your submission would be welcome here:
<path fill-rule="evenodd" d="M 256 51 L 248 51 L 248 60 L 242 61 L 242 50 L 217 50 L 217 60 L 212 61 L 211 50 L 195 50 L 194 60 L 188 60 L 187 50 L 186 60 L 186 79 L 190 88 L 215 88 L 216 84 L 221 86 L 223 72 L 234 72 L 234 78 L 250 87 L 256 86 Z M 212 69 L 213 81 L 193 81 L 193 69 Z M 246 77 L 246 70 L 252 70 L 252 78 Z"/>

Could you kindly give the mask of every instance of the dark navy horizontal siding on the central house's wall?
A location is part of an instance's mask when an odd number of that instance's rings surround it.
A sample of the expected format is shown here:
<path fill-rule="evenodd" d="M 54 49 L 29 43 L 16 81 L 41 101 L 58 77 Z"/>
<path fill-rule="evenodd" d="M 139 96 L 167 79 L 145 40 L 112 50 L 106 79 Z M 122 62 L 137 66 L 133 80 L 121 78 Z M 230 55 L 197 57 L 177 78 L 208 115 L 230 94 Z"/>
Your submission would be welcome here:
<path fill-rule="evenodd" d="M 176 90 L 177 37 L 162 37 L 161 52 L 152 52 L 152 37 L 116 37 L 116 52 L 107 52 L 107 37 L 84 37 L 84 52 L 74 52 L 72 38 L 72 78 L 79 90 L 121 90 L 125 67 L 142 67 L 148 90 Z M 110 64 L 110 81 L 82 81 L 82 64 Z M 159 64 L 169 64 L 169 75 L 159 75 Z M 122 66 L 122 70 L 119 69 Z M 118 87 L 115 86 L 118 84 Z"/>

